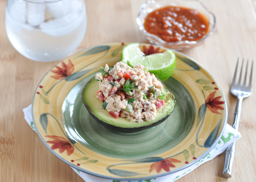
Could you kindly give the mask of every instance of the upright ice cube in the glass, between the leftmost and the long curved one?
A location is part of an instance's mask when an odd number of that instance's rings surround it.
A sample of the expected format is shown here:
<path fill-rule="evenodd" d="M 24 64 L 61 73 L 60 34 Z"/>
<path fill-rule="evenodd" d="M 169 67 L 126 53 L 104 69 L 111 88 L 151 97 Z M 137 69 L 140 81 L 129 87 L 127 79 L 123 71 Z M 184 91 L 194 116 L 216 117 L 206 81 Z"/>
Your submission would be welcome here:
<path fill-rule="evenodd" d="M 28 3 L 27 21 L 31 26 L 39 26 L 44 22 L 45 4 Z"/>

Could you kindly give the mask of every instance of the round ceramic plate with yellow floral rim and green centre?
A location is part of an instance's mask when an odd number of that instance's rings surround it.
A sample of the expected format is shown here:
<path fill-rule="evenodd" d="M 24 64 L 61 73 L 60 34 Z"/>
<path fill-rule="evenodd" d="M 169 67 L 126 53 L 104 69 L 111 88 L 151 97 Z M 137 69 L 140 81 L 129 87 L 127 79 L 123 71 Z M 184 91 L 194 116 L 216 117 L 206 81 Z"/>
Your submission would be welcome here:
<path fill-rule="evenodd" d="M 108 179 L 151 179 L 200 163 L 223 133 L 226 102 L 213 77 L 184 54 L 175 52 L 176 69 L 164 81 L 174 93 L 176 106 L 161 125 L 122 134 L 99 125 L 85 109 L 83 87 L 100 67 L 120 61 L 127 44 L 87 48 L 43 77 L 32 109 L 39 137 L 69 166 Z M 140 48 L 145 54 L 165 50 L 147 44 L 140 44 Z"/>

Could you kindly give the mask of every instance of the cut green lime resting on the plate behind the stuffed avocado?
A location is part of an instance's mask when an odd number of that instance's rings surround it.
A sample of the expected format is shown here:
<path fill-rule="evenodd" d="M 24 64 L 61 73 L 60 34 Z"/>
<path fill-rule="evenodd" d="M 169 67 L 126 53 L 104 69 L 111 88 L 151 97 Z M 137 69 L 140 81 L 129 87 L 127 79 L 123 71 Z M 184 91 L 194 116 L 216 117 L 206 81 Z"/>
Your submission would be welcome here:
<path fill-rule="evenodd" d="M 144 67 L 149 68 L 149 73 L 153 73 L 161 80 L 171 77 L 176 65 L 176 58 L 173 51 L 166 50 L 163 53 L 144 56 L 138 43 L 125 46 L 122 51 L 121 61 L 130 67 L 138 63 L 142 64 Z"/>

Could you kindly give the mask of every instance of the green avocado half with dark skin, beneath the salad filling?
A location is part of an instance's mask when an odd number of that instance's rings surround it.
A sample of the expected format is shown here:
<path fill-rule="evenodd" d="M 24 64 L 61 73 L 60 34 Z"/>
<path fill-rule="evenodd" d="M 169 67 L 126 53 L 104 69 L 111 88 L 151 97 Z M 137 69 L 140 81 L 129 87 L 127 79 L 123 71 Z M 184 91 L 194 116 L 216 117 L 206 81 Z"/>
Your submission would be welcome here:
<path fill-rule="evenodd" d="M 138 123 L 129 121 L 127 118 L 113 118 L 109 115 L 108 111 L 102 108 L 103 102 L 96 98 L 97 95 L 95 93 L 98 92 L 99 86 L 95 77 L 86 83 L 82 91 L 82 101 L 90 115 L 99 124 L 121 133 L 135 133 L 161 124 L 174 111 L 176 104 L 175 97 L 168 91 L 164 83 L 162 84 L 166 93 L 166 99 L 164 100 L 164 105 L 157 110 L 156 117 L 153 121 L 143 121 L 142 123 Z"/>

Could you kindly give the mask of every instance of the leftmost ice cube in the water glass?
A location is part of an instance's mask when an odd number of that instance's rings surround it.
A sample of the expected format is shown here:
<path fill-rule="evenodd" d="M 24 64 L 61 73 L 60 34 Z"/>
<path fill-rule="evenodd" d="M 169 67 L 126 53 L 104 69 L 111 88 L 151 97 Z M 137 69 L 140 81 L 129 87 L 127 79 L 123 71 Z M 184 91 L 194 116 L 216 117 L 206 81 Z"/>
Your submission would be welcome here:
<path fill-rule="evenodd" d="M 26 2 L 24 0 L 15 1 L 7 10 L 15 22 L 26 23 Z"/>

